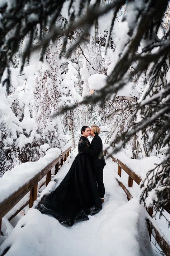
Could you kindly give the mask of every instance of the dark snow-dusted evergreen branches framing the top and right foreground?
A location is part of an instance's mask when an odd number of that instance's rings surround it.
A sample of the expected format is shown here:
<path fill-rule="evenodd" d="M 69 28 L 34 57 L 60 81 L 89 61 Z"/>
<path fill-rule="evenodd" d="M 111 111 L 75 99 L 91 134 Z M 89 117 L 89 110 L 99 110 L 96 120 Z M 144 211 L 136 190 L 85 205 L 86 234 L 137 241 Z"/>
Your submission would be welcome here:
<path fill-rule="evenodd" d="M 134 116 L 137 119 L 131 122 L 127 131 L 117 137 L 115 151 L 136 134 L 145 142 L 148 140 L 148 133 L 152 133 L 149 138 L 151 150 L 155 145 L 157 148 L 166 149 L 165 160 L 158 169 L 152 170 L 154 179 L 150 183 L 147 177 L 146 189 L 142 194 L 142 199 L 145 200 L 148 192 L 154 191 L 156 197 L 151 203 L 155 204 L 157 209 L 170 201 L 170 194 L 167 193 L 167 187 L 170 186 L 168 3 L 168 0 L 23 0 L 17 3 L 4 0 L 0 5 L 0 78 L 5 71 L 7 75 L 3 77 L 2 82 L 7 83 L 8 90 L 10 61 L 25 36 L 28 43 L 22 53 L 23 64 L 31 51 L 41 48 L 42 57 L 49 42 L 61 40 L 61 37 L 63 44 L 60 56 L 69 58 L 76 47 L 81 47 L 83 40 L 90 38 L 93 42 L 105 46 L 106 54 L 110 55 L 110 65 L 107 73 L 105 72 L 105 86 L 94 95 L 84 98 L 81 104 L 100 102 L 103 105 L 108 98 L 115 100 L 119 96 L 118 91 L 126 84 L 133 82 L 133 79 L 143 78 L 145 90 L 132 117 L 132 120 Z M 122 20 L 117 22 L 117 17 L 124 10 L 126 13 Z M 101 28 L 103 19 L 105 29 Z M 45 31 L 46 35 L 43 36 Z M 116 36 L 118 33 L 122 35 Z M 74 108 L 80 104 L 79 101 L 73 103 Z M 70 105 L 65 106 L 63 113 L 72 108 Z"/>

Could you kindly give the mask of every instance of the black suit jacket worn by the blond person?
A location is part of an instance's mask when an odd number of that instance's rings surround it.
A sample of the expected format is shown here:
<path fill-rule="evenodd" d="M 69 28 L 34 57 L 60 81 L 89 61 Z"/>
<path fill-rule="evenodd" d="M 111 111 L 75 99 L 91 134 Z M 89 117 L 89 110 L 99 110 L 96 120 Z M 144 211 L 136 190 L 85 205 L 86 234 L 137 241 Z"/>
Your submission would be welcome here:
<path fill-rule="evenodd" d="M 93 137 L 90 148 L 87 148 L 87 147 L 84 148 L 83 152 L 85 154 L 93 155 L 93 163 L 95 167 L 106 165 L 106 162 L 103 156 L 103 144 L 99 135 L 96 134 Z"/>

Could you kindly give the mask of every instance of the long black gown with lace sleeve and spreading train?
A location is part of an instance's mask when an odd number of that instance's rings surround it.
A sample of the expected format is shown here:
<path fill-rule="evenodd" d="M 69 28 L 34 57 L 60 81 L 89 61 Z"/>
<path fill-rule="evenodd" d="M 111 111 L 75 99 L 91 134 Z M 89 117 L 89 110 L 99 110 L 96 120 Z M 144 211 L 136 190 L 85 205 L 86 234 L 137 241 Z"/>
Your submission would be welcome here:
<path fill-rule="evenodd" d="M 79 154 L 75 157 L 69 172 L 60 185 L 38 205 L 43 214 L 55 217 L 60 223 L 70 226 L 77 219 L 88 220 L 88 215 L 98 212 L 101 200 L 94 178 L 91 155 L 84 154 L 84 147 L 90 147 L 89 140 L 79 140 Z"/>

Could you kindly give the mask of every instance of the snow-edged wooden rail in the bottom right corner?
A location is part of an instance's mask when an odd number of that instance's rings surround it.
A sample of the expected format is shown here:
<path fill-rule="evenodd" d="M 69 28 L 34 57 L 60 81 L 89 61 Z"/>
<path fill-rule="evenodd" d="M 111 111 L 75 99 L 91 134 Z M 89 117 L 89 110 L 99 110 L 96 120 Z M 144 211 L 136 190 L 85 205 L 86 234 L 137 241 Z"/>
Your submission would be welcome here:
<path fill-rule="evenodd" d="M 154 230 L 154 232 L 152 232 L 152 236 L 155 237 L 155 240 L 161 247 L 162 251 L 165 253 L 166 256 L 170 256 L 170 244 L 167 243 L 164 237 L 160 235 L 159 231 L 154 227 L 150 220 L 147 219 L 147 223 Z"/>

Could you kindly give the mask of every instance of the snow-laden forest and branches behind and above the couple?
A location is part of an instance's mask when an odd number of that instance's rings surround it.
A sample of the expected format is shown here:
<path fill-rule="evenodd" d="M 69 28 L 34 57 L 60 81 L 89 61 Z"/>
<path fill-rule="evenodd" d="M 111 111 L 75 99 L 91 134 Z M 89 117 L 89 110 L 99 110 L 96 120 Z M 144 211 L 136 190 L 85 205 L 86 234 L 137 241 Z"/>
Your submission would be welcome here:
<path fill-rule="evenodd" d="M 112 153 L 157 156 L 140 201 L 170 204 L 168 0 L 0 3 L 0 177 L 101 127 Z M 169 102 L 169 103 L 168 103 Z"/>

